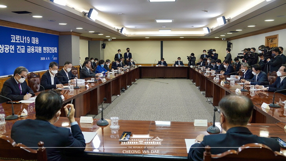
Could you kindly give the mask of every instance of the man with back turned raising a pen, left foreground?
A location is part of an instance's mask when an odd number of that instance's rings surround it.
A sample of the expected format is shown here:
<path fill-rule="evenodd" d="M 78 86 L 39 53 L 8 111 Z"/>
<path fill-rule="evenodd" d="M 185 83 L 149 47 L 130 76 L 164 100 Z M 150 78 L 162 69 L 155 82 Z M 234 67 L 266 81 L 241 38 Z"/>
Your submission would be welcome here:
<path fill-rule="evenodd" d="M 38 142 L 43 141 L 49 161 L 64 160 L 65 152 L 83 152 L 86 144 L 80 126 L 74 118 L 73 104 L 63 107 L 66 116 L 69 108 L 71 109 L 67 116 L 71 130 L 53 125 L 59 119 L 62 104 L 58 93 L 51 90 L 41 92 L 35 100 L 36 119 L 15 122 L 11 129 L 11 138 L 27 147 L 37 147 Z"/>

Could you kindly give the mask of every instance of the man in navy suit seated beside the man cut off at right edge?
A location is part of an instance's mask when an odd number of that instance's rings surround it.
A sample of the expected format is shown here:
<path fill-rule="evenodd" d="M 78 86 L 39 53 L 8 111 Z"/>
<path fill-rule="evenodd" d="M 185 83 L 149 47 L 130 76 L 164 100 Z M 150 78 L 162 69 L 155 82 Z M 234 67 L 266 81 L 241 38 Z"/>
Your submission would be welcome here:
<path fill-rule="evenodd" d="M 254 75 L 251 81 L 246 79 L 241 79 L 241 82 L 245 82 L 245 84 L 250 85 L 269 85 L 267 74 L 264 71 L 261 71 L 261 67 L 259 64 L 252 65 L 252 74 Z"/>

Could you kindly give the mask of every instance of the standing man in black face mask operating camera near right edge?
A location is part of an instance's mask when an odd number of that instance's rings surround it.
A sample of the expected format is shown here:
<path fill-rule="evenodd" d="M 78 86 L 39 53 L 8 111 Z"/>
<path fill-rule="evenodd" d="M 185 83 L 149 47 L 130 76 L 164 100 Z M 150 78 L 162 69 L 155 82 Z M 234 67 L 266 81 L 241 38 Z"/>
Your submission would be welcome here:
<path fill-rule="evenodd" d="M 272 71 L 278 71 L 279 67 L 282 65 L 282 57 L 279 55 L 280 50 L 278 47 L 273 47 L 272 51 L 272 59 L 267 59 L 267 63 L 270 66 L 270 72 Z"/>

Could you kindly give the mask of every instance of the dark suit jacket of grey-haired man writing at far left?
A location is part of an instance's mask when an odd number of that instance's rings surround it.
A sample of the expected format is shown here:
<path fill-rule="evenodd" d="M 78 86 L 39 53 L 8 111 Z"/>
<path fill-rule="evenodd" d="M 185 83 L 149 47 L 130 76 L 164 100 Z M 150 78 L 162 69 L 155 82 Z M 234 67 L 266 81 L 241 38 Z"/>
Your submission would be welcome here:
<path fill-rule="evenodd" d="M 1 95 L 4 97 L 10 98 L 12 101 L 18 101 L 23 100 L 24 96 L 28 93 L 34 95 L 33 90 L 27 85 L 27 82 L 21 83 L 22 86 L 22 94 L 19 89 L 17 81 L 12 76 L 11 78 L 7 79 L 4 84 L 3 88 L 1 90 Z M 0 103 L 7 102 L 9 100 L 0 97 Z"/>

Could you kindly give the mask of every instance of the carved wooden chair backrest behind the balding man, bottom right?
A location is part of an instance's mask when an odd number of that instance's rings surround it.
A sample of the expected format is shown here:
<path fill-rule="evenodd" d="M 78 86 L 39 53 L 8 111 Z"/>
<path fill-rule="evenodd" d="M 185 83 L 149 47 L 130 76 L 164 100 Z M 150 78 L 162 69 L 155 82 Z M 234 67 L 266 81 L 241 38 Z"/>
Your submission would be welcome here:
<path fill-rule="evenodd" d="M 221 154 L 211 154 L 210 146 L 205 147 L 204 161 L 283 161 L 286 157 L 280 152 L 273 152 L 268 146 L 259 143 L 245 144 L 238 150 L 228 150 Z"/>

